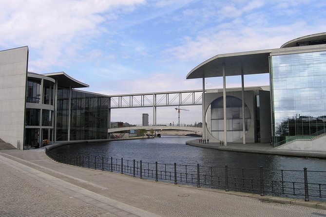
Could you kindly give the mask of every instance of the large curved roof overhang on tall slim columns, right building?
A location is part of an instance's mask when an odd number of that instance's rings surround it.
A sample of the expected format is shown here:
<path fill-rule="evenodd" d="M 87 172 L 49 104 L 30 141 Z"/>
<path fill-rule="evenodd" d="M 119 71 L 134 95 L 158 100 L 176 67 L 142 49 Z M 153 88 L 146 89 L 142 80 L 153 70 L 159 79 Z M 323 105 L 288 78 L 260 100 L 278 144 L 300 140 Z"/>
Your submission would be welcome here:
<path fill-rule="evenodd" d="M 188 73 L 187 79 L 269 73 L 269 54 L 276 49 L 249 51 L 231 54 L 218 54 L 199 64 Z"/>

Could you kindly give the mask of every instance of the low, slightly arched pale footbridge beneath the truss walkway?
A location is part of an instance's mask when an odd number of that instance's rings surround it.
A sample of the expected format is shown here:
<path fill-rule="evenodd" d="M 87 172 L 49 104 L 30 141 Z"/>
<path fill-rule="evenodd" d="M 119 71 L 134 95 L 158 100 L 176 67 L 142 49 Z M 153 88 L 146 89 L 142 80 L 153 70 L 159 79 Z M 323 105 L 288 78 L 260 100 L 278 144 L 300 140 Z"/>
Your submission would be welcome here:
<path fill-rule="evenodd" d="M 108 129 L 108 133 L 114 133 L 124 130 L 132 130 L 132 129 L 147 129 L 147 130 L 162 130 L 162 129 L 174 129 L 174 130 L 184 130 L 191 132 L 203 132 L 202 127 L 179 127 L 179 126 L 135 126 L 135 127 L 117 127 Z"/>

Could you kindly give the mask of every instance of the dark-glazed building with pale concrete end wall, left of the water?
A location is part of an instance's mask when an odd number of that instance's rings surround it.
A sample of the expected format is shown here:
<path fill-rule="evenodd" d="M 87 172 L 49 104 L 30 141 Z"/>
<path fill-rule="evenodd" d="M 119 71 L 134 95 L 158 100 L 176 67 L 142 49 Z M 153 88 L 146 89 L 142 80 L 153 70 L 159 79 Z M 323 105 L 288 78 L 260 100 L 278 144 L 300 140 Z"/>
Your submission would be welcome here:
<path fill-rule="evenodd" d="M 19 149 L 108 139 L 109 97 L 64 72 L 27 72 L 28 47 L 0 52 L 0 138 Z"/>

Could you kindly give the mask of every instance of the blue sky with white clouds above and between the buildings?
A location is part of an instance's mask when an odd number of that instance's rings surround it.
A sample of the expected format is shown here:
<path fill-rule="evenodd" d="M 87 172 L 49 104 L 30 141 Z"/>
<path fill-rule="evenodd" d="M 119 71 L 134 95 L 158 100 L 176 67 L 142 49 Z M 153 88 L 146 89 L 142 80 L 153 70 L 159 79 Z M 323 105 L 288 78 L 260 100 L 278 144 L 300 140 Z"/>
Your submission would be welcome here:
<path fill-rule="evenodd" d="M 65 72 L 107 95 L 200 90 L 186 80 L 217 54 L 279 48 L 326 32 L 324 0 L 0 0 L 0 50 L 29 47 L 28 71 Z M 221 78 L 205 80 L 221 88 Z M 245 76 L 245 87 L 268 85 Z M 227 88 L 241 87 L 227 77 Z M 180 122 L 201 122 L 188 106 Z M 153 109 L 112 109 L 111 121 L 141 124 Z M 157 124 L 177 123 L 173 107 L 157 109 Z"/>

